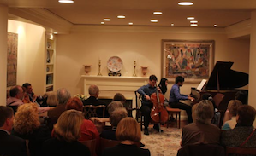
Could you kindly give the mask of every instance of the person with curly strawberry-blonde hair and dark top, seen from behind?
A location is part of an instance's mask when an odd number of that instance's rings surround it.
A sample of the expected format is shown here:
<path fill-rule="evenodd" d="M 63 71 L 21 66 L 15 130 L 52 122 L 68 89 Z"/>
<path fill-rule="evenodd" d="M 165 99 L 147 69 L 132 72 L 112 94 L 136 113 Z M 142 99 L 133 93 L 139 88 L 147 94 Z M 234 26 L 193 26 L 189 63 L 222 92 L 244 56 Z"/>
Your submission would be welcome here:
<path fill-rule="evenodd" d="M 42 143 L 51 137 L 46 125 L 40 125 L 38 106 L 27 103 L 18 107 L 15 113 L 12 135 L 28 140 L 30 156 L 38 156 L 42 151 Z"/>

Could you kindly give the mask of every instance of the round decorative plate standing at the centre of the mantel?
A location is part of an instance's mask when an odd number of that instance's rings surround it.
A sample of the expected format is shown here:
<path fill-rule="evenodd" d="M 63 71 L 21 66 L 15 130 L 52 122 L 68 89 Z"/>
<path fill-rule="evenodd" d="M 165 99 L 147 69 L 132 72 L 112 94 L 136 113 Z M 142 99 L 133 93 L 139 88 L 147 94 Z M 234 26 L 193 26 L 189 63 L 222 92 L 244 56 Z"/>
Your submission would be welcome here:
<path fill-rule="evenodd" d="M 122 69 L 122 59 L 118 56 L 112 56 L 107 62 L 110 72 L 119 72 Z"/>

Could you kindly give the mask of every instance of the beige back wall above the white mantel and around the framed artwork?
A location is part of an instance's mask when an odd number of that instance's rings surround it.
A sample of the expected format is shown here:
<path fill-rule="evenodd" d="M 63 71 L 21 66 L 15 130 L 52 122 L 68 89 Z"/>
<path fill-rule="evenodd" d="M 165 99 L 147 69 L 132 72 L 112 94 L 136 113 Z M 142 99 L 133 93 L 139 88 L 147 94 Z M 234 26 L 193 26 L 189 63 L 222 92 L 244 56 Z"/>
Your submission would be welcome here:
<path fill-rule="evenodd" d="M 214 61 L 235 61 L 234 70 L 249 70 L 249 41 L 228 39 L 221 28 L 74 26 L 70 34 L 57 35 L 56 89 L 66 87 L 72 95 L 82 93 L 83 65 L 92 65 L 90 74 L 97 75 L 100 59 L 102 74 L 107 75 L 106 63 L 113 55 L 122 58 L 123 76 L 133 75 L 137 61 L 139 76 L 140 66 L 149 66 L 147 75 L 160 78 L 162 39 L 215 40 Z M 186 83 L 182 93 L 190 93 L 190 87 L 197 85 Z"/>

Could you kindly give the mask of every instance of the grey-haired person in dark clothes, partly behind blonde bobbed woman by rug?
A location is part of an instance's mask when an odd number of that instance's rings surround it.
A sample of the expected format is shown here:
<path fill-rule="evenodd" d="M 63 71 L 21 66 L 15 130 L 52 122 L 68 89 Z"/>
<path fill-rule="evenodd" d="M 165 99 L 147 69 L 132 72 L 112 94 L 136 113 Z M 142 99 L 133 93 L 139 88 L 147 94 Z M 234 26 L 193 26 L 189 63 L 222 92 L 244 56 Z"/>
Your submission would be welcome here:
<path fill-rule="evenodd" d="M 118 107 L 110 113 L 111 130 L 103 130 L 100 137 L 104 139 L 116 140 L 116 127 L 122 118 L 128 117 L 127 110 L 124 107 Z"/>

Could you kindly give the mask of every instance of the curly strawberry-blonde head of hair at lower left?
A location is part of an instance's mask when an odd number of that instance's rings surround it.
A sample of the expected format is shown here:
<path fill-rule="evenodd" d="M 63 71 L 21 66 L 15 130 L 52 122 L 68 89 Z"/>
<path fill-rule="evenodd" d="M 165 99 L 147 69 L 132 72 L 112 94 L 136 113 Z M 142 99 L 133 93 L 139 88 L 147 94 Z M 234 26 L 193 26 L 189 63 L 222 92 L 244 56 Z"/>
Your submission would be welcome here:
<path fill-rule="evenodd" d="M 35 103 L 26 103 L 18 107 L 15 113 L 14 129 L 20 134 L 32 133 L 39 128 L 39 111 Z"/>

